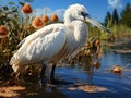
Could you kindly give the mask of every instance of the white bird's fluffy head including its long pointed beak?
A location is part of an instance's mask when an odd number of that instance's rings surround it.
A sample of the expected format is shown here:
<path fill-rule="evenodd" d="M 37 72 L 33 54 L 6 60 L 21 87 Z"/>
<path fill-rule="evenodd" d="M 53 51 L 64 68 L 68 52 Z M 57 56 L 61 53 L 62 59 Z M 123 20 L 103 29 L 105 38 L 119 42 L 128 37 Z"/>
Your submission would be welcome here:
<path fill-rule="evenodd" d="M 93 20 L 86 8 L 82 4 L 72 4 L 69 7 L 69 9 L 66 10 L 64 13 L 64 23 L 71 23 L 72 21 L 81 20 L 84 22 L 90 22 L 91 24 L 97 26 L 98 28 L 105 30 L 106 33 L 110 33 L 106 27 L 104 27 L 100 23 Z"/>

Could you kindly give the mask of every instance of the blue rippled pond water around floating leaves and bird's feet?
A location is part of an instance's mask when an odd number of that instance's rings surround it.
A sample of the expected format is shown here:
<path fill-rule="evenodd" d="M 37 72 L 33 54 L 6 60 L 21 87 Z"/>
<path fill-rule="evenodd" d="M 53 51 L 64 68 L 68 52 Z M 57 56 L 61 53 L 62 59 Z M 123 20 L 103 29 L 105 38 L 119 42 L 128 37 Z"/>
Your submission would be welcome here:
<path fill-rule="evenodd" d="M 98 93 L 85 93 L 80 89 L 69 90 L 75 87 L 75 83 L 86 85 L 87 74 L 80 69 L 57 68 L 56 78 L 68 82 L 49 87 L 40 87 L 38 84 L 26 84 L 27 90 L 22 98 L 131 98 L 131 53 L 116 53 L 114 49 L 131 49 L 130 42 L 114 47 L 103 46 L 102 66 L 95 70 L 92 84 L 107 88 Z M 110 73 L 110 70 L 119 64 L 123 68 L 121 75 Z"/>

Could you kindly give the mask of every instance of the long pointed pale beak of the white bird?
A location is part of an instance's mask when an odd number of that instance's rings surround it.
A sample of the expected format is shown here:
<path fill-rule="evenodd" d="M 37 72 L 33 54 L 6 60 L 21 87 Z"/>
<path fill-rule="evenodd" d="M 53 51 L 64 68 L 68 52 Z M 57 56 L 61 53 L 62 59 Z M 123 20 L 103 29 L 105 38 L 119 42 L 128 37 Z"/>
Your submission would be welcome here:
<path fill-rule="evenodd" d="M 104 32 L 109 33 L 109 34 L 111 33 L 109 29 L 107 29 L 106 27 L 104 27 L 100 23 L 98 23 L 97 21 L 93 20 L 92 17 L 86 16 L 85 20 L 87 22 L 90 22 L 91 24 L 97 26 L 98 28 L 103 29 Z"/>

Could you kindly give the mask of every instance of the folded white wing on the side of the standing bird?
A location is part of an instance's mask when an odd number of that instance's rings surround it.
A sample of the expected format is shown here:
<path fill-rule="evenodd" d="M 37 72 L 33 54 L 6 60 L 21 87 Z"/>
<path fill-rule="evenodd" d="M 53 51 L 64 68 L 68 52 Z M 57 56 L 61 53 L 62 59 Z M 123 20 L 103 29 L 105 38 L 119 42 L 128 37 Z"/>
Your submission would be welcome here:
<path fill-rule="evenodd" d="M 66 27 L 51 25 L 25 38 L 25 42 L 12 57 L 10 64 L 28 64 L 48 60 L 57 54 L 66 44 Z M 50 28 L 50 29 L 49 29 Z M 43 32 L 43 33 L 41 33 Z"/>

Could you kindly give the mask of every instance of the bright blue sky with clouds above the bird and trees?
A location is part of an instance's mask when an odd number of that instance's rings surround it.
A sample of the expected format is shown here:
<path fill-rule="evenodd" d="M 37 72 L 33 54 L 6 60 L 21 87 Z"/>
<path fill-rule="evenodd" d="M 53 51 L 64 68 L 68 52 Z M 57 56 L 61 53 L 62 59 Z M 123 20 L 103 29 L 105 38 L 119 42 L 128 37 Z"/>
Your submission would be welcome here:
<path fill-rule="evenodd" d="M 17 3 L 17 0 L 0 0 L 2 4 L 9 1 Z M 121 12 L 127 2 L 131 3 L 131 0 L 34 0 L 29 4 L 34 9 L 33 15 L 48 14 L 50 16 L 52 13 L 57 13 L 62 20 L 64 10 L 69 5 L 81 3 L 86 7 L 92 17 L 103 22 L 107 11 L 112 12 L 114 8 L 117 8 L 118 12 Z"/>

